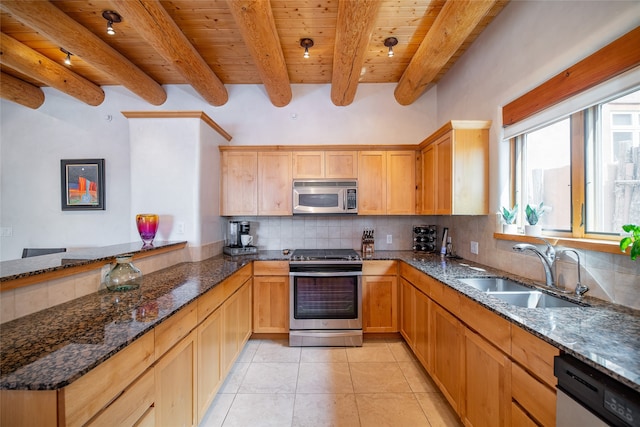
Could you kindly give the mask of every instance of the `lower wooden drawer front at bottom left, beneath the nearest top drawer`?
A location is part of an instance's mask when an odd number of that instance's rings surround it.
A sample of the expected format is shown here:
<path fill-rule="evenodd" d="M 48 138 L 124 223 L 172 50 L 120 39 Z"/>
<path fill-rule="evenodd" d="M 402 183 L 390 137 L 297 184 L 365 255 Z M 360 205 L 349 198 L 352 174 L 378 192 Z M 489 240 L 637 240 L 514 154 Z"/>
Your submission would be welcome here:
<path fill-rule="evenodd" d="M 138 378 L 100 415 L 91 420 L 90 427 L 132 426 L 142 419 L 155 399 L 153 369 Z"/>

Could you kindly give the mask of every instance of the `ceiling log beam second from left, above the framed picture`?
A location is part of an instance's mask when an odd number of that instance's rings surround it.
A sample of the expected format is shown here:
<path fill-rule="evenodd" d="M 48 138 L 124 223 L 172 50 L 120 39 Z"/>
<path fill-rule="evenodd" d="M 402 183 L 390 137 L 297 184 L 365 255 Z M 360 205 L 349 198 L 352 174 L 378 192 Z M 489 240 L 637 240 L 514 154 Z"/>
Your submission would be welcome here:
<path fill-rule="evenodd" d="M 89 105 L 104 101 L 99 86 L 4 33 L 0 33 L 0 63 Z"/>

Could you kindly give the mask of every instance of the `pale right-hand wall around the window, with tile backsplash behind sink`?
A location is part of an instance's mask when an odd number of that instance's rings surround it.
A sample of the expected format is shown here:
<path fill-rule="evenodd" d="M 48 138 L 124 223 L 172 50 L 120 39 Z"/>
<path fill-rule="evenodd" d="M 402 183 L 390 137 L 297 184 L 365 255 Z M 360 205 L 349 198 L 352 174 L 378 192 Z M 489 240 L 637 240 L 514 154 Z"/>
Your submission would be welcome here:
<path fill-rule="evenodd" d="M 438 122 L 491 119 L 490 211 L 506 206 L 508 143 L 502 138 L 502 110 L 508 102 L 640 25 L 638 1 L 512 0 L 438 83 Z M 535 256 L 511 251 L 515 242 L 493 238 L 495 217 L 440 217 L 467 259 L 543 281 Z M 470 241 L 480 253 L 470 253 Z M 640 308 L 640 263 L 628 257 L 580 251 L 583 283 L 590 295 Z M 559 264 L 575 286 L 571 261 Z"/>

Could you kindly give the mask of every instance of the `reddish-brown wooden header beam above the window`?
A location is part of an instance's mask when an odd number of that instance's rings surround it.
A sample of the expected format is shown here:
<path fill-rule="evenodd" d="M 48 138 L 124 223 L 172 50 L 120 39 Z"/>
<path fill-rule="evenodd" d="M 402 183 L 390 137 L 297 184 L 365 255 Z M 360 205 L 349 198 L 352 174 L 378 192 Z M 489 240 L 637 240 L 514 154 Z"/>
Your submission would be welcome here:
<path fill-rule="evenodd" d="M 504 127 L 640 65 L 640 27 L 502 108 Z"/>

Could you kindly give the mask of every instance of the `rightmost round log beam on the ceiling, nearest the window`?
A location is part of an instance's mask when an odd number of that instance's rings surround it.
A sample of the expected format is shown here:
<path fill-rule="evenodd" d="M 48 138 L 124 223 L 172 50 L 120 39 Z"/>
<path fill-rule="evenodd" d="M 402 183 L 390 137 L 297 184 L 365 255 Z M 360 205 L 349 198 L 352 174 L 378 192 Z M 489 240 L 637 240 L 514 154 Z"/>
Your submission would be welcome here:
<path fill-rule="evenodd" d="M 475 30 L 496 0 L 448 0 L 402 74 L 394 95 L 413 103 Z"/>

